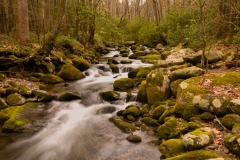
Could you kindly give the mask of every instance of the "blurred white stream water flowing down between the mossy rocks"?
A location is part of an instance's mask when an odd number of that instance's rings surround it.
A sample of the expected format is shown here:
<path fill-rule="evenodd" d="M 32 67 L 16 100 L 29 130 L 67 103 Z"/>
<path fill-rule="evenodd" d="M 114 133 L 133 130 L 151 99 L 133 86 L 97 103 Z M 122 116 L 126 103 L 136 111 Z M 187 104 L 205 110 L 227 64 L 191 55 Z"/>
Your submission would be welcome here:
<path fill-rule="evenodd" d="M 112 57 L 118 51 L 111 51 Z M 120 60 L 121 58 L 116 58 Z M 150 133 L 137 131 L 142 142 L 130 143 L 129 135 L 115 127 L 108 118 L 129 104 L 126 92 L 114 103 L 103 101 L 99 92 L 113 90 L 117 78 L 127 77 L 127 72 L 142 64 L 134 60 L 132 64 L 118 64 L 120 73 L 112 74 L 105 63 L 92 65 L 85 71 L 86 78 L 72 82 L 68 87 L 55 85 L 50 91 L 60 93 L 71 90 L 81 92 L 81 101 L 57 102 L 49 105 L 49 113 L 55 116 L 38 133 L 16 141 L 4 149 L 0 148 L 0 160 L 157 160 L 158 147 L 146 142 L 156 140 Z M 2 150 L 2 151 L 1 151 Z"/>

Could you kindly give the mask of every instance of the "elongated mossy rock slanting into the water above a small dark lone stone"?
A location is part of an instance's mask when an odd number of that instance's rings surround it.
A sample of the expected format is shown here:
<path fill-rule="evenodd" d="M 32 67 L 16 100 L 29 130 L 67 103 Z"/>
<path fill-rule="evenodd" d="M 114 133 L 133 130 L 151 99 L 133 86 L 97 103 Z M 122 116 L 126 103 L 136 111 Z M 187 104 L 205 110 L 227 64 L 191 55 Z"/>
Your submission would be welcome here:
<path fill-rule="evenodd" d="M 123 120 L 118 119 L 117 117 L 111 117 L 109 118 L 109 121 L 115 124 L 115 126 L 117 126 L 123 132 L 130 133 L 136 130 L 136 127 L 133 126 L 131 123 L 124 122 Z"/>

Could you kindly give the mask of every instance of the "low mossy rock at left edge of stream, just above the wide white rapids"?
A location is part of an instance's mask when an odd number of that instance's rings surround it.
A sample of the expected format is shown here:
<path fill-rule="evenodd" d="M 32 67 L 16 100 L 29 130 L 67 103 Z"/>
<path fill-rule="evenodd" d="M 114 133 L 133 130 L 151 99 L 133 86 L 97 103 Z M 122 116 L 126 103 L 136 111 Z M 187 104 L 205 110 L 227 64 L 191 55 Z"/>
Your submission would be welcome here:
<path fill-rule="evenodd" d="M 74 91 L 65 91 L 62 92 L 58 98 L 59 101 L 72 101 L 82 99 L 82 95 L 79 92 Z"/>

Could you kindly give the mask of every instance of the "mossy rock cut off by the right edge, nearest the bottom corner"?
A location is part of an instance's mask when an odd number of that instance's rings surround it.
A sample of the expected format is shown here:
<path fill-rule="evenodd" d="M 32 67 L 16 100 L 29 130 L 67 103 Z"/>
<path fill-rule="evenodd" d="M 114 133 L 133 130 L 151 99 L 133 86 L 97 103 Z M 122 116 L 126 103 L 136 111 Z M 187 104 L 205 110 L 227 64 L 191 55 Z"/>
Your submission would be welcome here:
<path fill-rule="evenodd" d="M 237 156 L 240 156 L 240 134 L 228 134 L 224 138 L 226 147 Z"/>

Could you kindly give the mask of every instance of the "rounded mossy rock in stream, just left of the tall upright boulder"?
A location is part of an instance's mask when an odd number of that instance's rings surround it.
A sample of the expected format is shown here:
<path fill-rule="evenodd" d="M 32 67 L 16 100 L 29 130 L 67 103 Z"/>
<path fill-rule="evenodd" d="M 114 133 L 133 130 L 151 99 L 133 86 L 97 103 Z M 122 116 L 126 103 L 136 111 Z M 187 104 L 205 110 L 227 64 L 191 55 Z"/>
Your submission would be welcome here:
<path fill-rule="evenodd" d="M 120 78 L 113 83 L 114 90 L 126 90 L 134 88 L 134 82 L 130 78 Z"/>

